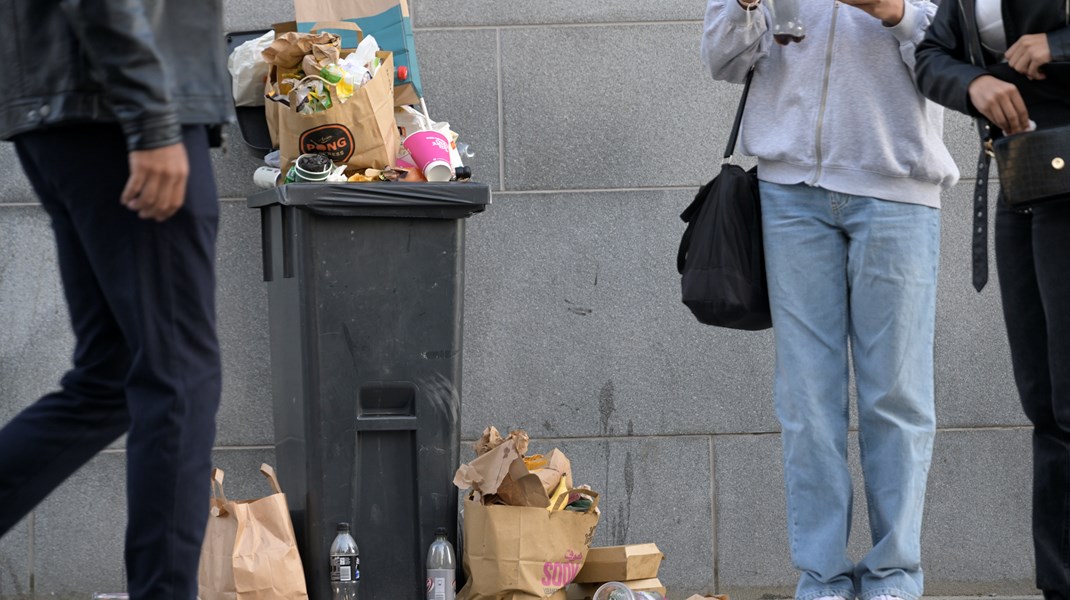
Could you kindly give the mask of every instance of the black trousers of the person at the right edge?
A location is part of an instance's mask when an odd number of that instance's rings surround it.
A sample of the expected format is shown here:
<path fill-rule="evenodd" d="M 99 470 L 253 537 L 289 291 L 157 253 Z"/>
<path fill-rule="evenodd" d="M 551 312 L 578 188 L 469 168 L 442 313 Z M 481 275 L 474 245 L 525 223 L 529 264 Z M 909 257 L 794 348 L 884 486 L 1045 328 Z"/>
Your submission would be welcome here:
<path fill-rule="evenodd" d="M 1037 587 L 1070 600 L 1070 195 L 999 202 L 996 264 L 1014 382 L 1033 422 Z"/>

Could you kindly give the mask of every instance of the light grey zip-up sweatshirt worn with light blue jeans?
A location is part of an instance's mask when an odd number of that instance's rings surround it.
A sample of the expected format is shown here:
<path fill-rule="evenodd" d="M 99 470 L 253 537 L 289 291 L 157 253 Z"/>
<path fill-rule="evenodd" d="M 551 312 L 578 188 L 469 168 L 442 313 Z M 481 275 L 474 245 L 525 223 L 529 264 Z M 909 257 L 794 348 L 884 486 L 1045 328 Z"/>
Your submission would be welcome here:
<path fill-rule="evenodd" d="M 914 48 L 936 5 L 904 0 L 886 27 L 835 0 L 799 0 L 806 39 L 781 46 L 767 0 L 747 11 L 709 0 L 702 57 L 715 79 L 740 82 L 755 65 L 740 150 L 759 178 L 939 207 L 959 169 L 944 147 L 944 111 L 914 84 Z"/>

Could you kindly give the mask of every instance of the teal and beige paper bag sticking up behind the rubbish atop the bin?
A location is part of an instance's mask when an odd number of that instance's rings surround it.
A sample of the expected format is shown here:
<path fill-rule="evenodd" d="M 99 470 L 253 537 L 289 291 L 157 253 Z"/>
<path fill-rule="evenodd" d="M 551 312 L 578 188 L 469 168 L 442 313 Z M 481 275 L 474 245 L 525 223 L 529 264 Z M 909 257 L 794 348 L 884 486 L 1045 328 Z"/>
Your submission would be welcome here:
<path fill-rule="evenodd" d="M 408 0 L 293 0 L 293 10 L 299 31 L 308 31 L 324 20 L 347 20 L 361 26 L 365 35 L 374 36 L 382 49 L 394 53 L 398 71 L 408 72 L 404 79 L 395 79 L 395 105 L 419 103 L 424 91 Z"/>

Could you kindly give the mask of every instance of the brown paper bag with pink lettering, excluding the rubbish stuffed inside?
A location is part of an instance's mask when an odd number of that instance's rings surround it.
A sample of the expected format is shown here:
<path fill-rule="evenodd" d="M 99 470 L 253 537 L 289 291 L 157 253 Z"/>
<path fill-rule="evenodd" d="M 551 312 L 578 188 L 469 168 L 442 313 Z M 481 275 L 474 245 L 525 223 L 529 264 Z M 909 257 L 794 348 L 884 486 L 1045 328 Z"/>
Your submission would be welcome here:
<path fill-rule="evenodd" d="M 598 525 L 598 494 L 586 512 L 486 506 L 464 501 L 464 571 L 458 600 L 563 599 Z M 568 495 L 561 499 L 565 502 Z"/>

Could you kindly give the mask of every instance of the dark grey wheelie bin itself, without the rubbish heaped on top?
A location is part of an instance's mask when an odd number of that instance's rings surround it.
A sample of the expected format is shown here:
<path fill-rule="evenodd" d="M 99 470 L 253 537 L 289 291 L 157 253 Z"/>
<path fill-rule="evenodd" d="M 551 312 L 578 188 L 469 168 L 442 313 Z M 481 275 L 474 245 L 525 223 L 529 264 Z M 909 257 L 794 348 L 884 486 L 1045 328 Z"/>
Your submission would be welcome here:
<path fill-rule="evenodd" d="M 489 202 L 477 183 L 297 183 L 248 198 L 276 467 L 311 600 L 330 599 L 339 522 L 361 547 L 362 600 L 423 598 L 435 527 L 459 541 L 464 224 Z"/>

